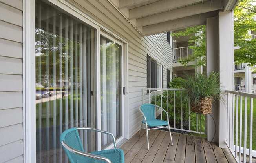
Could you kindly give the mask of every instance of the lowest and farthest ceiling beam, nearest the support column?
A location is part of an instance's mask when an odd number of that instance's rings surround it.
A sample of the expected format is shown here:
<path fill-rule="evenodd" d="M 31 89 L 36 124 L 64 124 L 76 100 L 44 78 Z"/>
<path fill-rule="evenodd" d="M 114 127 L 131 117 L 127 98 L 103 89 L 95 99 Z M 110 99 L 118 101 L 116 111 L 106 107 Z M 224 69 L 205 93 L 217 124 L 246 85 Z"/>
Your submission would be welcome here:
<path fill-rule="evenodd" d="M 168 22 L 162 22 L 159 24 L 148 25 L 142 27 L 142 36 L 148 36 L 151 34 L 163 33 L 168 31 L 176 31 L 179 29 L 203 25 L 206 22 L 206 18 L 217 15 L 218 11 L 212 11 L 208 13 L 188 16 L 185 18 L 179 18 L 176 20 L 170 20 Z"/>

